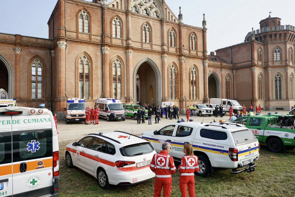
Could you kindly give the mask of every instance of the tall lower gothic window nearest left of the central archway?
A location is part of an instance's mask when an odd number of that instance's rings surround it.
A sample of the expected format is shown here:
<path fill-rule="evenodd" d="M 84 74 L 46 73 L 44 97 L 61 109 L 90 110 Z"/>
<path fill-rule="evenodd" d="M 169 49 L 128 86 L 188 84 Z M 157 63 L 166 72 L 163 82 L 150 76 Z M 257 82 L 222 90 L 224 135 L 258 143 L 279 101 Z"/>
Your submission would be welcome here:
<path fill-rule="evenodd" d="M 122 64 L 116 58 L 112 65 L 113 70 L 113 98 L 121 99 L 121 70 Z"/>

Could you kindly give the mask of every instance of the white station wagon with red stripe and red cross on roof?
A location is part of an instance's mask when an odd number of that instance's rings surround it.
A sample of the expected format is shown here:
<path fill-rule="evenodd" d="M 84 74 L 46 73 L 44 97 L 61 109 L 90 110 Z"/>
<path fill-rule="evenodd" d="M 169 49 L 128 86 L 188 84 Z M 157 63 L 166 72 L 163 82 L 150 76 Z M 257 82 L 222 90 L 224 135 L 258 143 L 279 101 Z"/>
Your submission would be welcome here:
<path fill-rule="evenodd" d="M 103 189 L 131 185 L 155 177 L 150 160 L 155 150 L 149 141 L 122 131 L 89 134 L 65 149 L 65 162 L 98 179 Z"/>

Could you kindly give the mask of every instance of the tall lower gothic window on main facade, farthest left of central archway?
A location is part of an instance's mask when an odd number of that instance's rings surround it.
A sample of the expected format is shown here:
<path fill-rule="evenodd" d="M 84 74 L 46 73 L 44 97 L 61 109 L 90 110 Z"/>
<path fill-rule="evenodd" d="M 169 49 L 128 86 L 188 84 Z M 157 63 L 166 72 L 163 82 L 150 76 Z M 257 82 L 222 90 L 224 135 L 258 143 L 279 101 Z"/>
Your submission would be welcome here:
<path fill-rule="evenodd" d="M 89 99 L 90 62 L 86 55 L 79 59 L 79 98 Z"/>

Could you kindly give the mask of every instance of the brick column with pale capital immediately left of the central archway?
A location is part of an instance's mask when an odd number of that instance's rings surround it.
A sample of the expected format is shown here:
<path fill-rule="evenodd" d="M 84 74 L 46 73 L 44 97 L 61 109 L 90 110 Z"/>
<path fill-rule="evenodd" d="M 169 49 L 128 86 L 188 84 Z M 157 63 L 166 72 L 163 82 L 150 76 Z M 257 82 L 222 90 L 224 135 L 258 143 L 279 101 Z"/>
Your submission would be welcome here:
<path fill-rule="evenodd" d="M 126 103 L 133 103 L 134 102 L 134 76 L 132 75 L 132 53 L 133 51 L 131 49 L 126 50 L 126 78 L 127 81 L 125 82 L 125 87 L 127 88 L 126 92 Z"/>

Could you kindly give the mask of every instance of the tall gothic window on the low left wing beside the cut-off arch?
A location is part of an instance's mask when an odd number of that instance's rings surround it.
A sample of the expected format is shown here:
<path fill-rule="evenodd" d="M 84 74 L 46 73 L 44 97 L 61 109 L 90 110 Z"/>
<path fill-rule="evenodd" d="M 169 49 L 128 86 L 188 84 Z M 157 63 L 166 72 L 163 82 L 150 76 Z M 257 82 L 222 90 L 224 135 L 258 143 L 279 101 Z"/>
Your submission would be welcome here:
<path fill-rule="evenodd" d="M 31 64 L 32 69 L 32 99 L 42 98 L 42 63 L 38 58 L 35 58 Z"/>

